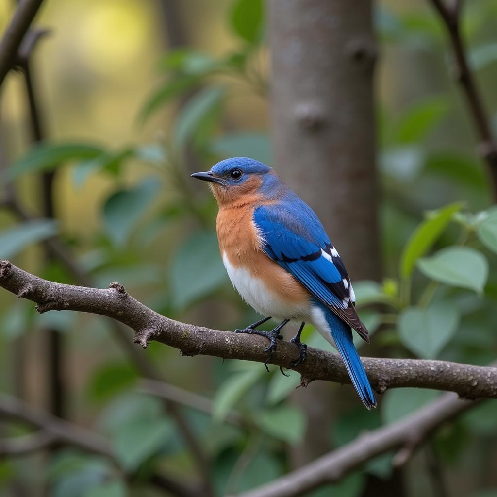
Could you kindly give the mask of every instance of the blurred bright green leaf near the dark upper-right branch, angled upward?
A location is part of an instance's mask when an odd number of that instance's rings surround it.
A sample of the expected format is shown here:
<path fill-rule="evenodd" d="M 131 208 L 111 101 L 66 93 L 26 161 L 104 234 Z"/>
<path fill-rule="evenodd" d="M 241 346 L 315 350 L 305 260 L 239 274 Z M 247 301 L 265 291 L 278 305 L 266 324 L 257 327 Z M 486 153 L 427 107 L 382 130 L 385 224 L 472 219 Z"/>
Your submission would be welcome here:
<path fill-rule="evenodd" d="M 395 142 L 419 143 L 440 122 L 448 108 L 445 96 L 431 96 L 415 103 L 398 123 Z"/>

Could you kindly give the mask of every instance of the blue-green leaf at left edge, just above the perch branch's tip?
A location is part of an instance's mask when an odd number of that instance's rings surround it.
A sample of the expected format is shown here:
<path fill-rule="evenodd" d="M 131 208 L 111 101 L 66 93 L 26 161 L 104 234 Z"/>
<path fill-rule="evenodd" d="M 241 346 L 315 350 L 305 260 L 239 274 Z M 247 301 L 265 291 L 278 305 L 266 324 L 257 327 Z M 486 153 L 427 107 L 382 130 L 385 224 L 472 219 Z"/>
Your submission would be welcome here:
<path fill-rule="evenodd" d="M 0 257 L 17 255 L 31 244 L 41 242 L 58 233 L 57 221 L 53 219 L 34 219 L 0 231 Z"/>

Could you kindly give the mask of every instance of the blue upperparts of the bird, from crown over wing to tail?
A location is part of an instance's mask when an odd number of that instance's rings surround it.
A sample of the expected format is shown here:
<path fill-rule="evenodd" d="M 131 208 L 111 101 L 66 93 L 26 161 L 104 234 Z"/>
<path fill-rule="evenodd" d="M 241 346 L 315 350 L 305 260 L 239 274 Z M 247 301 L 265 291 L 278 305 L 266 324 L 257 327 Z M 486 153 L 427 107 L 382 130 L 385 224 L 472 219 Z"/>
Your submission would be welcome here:
<path fill-rule="evenodd" d="M 242 176 L 230 179 L 234 169 L 240 169 Z M 211 172 L 224 178 L 223 185 L 228 189 L 253 175 L 262 179 L 256 188 L 264 200 L 253 211 L 262 249 L 313 295 L 315 305 L 325 313 L 331 336 L 359 397 L 368 409 L 376 406 L 351 328 L 366 341 L 368 331 L 355 311 L 355 296 L 345 266 L 318 216 L 261 162 L 234 157 L 219 162 Z"/>

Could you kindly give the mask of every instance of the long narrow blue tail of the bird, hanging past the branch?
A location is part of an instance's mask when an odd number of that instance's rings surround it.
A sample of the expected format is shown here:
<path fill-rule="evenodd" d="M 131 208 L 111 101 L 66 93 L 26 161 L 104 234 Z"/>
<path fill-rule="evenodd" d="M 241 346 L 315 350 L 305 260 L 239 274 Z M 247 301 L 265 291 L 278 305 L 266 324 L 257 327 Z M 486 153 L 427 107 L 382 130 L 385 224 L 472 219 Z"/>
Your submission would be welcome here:
<path fill-rule="evenodd" d="M 352 341 L 351 328 L 330 310 L 327 311 L 326 320 L 331 329 L 331 336 L 333 337 L 338 352 L 340 352 L 345 368 L 352 380 L 352 385 L 354 385 L 361 401 L 368 409 L 376 407 L 373 389 L 369 384 L 366 371 L 364 371 L 364 366 L 362 365 L 357 349 Z"/>

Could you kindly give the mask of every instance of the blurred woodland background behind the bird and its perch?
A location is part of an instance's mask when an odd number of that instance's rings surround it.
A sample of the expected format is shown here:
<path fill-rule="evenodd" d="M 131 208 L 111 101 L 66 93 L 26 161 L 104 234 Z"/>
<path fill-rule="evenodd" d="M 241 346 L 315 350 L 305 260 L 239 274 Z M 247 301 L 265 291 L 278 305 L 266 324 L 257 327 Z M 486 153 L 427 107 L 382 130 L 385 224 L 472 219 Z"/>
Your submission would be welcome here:
<path fill-rule="evenodd" d="M 351 80 L 340 82 L 327 71 L 340 69 L 343 47 L 321 46 L 338 62 L 301 77 L 285 59 L 301 49 L 285 29 L 298 40 L 312 9 L 301 18 L 278 1 L 272 16 L 262 0 L 45 1 L 23 71 L 2 87 L 0 256 L 54 281 L 119 281 L 172 319 L 243 328 L 257 317 L 223 268 L 217 206 L 189 174 L 249 156 L 275 166 L 322 218 L 373 333 L 361 354 L 489 364 L 495 192 L 446 31 L 429 1 L 378 1 L 372 12 L 363 3 L 354 14 L 363 21 L 347 17 L 351 7 L 331 9 L 326 29 L 364 30 L 369 40 L 365 50 L 351 45 L 364 67 L 345 68 Z M 0 2 L 0 32 L 15 6 Z M 495 1 L 466 2 L 461 30 L 494 133 L 496 28 Z M 296 110 L 300 128 L 289 122 L 285 109 L 308 91 L 289 86 L 311 76 L 324 84 L 309 83 L 311 91 L 332 94 L 324 108 L 337 127 L 312 105 Z M 296 164 L 292 147 L 301 149 Z M 451 278 L 454 259 L 466 264 Z M 331 349 L 311 327 L 304 335 Z M 0 438 L 20 441 L 17 450 L 0 445 L 0 495 L 235 495 L 439 395 L 389 390 L 368 413 L 350 386 L 296 389 L 296 372 L 183 357 L 156 342 L 144 351 L 132 339 L 109 320 L 37 315 L 31 302 L 0 292 L 0 389 L 24 401 L 20 416 L 0 402 Z M 100 450 L 45 440 L 26 419 L 34 408 L 91 430 L 81 436 Z M 308 495 L 497 496 L 496 419 L 495 401 L 481 403 L 403 467 L 387 453 Z M 20 450 L 33 440 L 38 450 Z"/>

